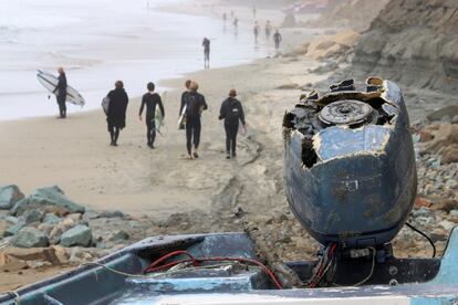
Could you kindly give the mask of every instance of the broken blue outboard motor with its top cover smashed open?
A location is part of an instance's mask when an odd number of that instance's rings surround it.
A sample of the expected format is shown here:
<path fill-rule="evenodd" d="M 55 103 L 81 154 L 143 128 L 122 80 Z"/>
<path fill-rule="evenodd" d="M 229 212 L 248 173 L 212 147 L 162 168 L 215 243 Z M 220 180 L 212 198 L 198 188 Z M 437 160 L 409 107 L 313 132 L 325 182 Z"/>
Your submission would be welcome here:
<path fill-rule="evenodd" d="M 417 190 L 400 88 L 378 77 L 305 96 L 284 115 L 284 176 L 291 210 L 323 245 L 382 246 L 404 225 Z"/>

